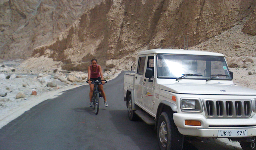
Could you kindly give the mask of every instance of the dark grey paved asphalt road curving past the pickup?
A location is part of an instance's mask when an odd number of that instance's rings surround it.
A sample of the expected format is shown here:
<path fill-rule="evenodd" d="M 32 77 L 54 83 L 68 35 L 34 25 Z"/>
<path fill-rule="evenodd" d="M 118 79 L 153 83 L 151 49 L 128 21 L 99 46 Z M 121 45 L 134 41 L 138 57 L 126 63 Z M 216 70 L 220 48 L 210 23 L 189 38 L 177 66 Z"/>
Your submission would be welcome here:
<path fill-rule="evenodd" d="M 159 150 L 154 126 L 130 121 L 123 75 L 104 85 L 109 106 L 89 105 L 89 86 L 65 91 L 31 108 L 0 130 L 0 150 Z M 241 150 L 215 140 L 184 143 L 183 150 Z"/>

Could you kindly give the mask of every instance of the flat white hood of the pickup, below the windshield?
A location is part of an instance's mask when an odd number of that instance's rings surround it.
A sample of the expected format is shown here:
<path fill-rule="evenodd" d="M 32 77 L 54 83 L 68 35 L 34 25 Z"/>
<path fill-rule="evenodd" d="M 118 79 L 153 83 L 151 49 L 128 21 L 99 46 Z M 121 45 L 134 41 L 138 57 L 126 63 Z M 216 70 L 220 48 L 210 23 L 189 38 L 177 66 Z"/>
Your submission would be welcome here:
<path fill-rule="evenodd" d="M 256 95 L 256 90 L 231 84 L 164 84 L 161 90 L 179 94 Z"/>

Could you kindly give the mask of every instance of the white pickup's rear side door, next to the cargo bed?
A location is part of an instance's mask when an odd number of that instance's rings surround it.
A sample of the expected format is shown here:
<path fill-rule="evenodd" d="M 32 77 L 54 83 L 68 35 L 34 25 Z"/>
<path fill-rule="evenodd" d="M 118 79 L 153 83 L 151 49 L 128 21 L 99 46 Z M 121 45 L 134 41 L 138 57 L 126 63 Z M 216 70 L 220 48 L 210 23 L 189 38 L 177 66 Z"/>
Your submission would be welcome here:
<path fill-rule="evenodd" d="M 144 76 L 144 68 L 145 68 L 145 61 L 146 56 L 141 56 L 138 58 L 137 64 L 137 72 L 135 74 L 134 80 L 134 88 L 136 90 L 137 98 L 136 100 L 142 104 L 142 97 L 143 97 L 143 76 Z"/>

